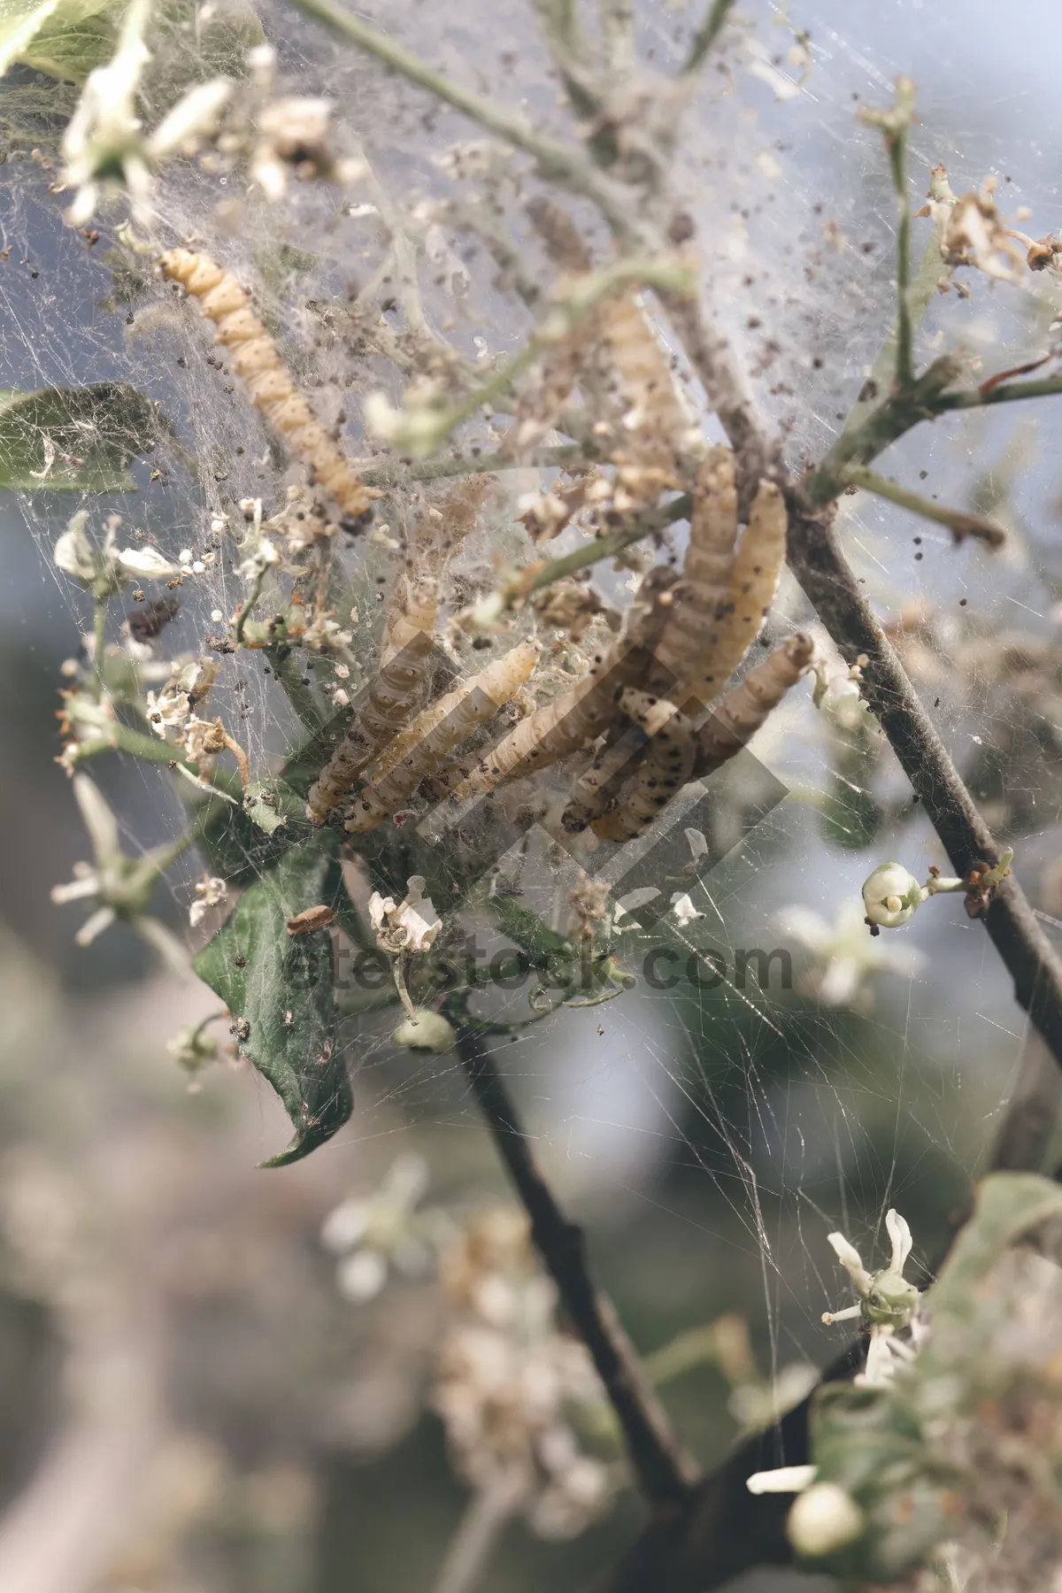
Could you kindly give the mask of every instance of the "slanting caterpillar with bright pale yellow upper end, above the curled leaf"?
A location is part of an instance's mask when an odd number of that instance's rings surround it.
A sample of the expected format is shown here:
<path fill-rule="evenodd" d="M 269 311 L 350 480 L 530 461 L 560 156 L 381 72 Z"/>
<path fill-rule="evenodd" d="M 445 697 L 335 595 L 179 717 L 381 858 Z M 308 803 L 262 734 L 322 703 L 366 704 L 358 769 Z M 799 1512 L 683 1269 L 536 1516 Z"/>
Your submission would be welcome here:
<path fill-rule="evenodd" d="M 355 796 L 346 828 L 365 833 L 395 812 L 476 725 L 494 718 L 500 707 L 513 701 L 530 679 L 540 653 L 540 642 L 521 642 L 419 714 L 387 747 L 369 785 Z"/>

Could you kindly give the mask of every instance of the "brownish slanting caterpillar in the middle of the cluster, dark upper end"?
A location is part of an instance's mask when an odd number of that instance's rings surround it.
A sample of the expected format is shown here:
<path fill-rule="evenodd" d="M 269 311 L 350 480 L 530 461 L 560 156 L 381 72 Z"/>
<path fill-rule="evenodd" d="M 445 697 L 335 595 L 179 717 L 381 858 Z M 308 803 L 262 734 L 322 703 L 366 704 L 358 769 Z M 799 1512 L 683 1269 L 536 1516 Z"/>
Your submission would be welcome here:
<path fill-rule="evenodd" d="M 653 577 L 653 580 L 650 580 Z M 651 597 L 675 581 L 675 572 L 666 567 L 650 570 L 642 583 Z M 597 653 L 591 669 L 581 680 L 552 703 L 535 709 L 522 723 L 489 747 L 474 763 L 455 763 L 441 769 L 430 782 L 436 798 L 451 793 L 459 801 L 468 796 L 484 796 L 503 781 L 521 779 L 535 769 L 546 769 L 559 758 L 589 746 L 618 717 L 616 699 L 624 687 L 645 675 L 650 648 L 659 628 L 659 602 L 632 604 L 629 626 L 623 637 L 605 652 Z"/>

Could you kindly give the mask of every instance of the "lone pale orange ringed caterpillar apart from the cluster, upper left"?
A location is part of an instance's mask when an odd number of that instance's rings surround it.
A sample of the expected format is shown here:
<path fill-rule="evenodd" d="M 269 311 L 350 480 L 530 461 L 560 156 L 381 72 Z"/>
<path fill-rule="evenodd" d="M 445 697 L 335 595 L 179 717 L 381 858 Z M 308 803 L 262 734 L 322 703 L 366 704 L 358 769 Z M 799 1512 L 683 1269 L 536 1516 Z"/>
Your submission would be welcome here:
<path fill-rule="evenodd" d="M 166 277 L 182 282 L 188 293 L 199 299 L 199 309 L 215 323 L 218 342 L 228 350 L 232 370 L 266 424 L 306 465 L 310 478 L 333 499 L 344 519 L 353 526 L 368 524 L 373 499 L 379 497 L 379 492 L 365 486 L 314 416 L 291 381 L 275 342 L 252 309 L 248 293 L 236 277 L 223 271 L 209 255 L 189 249 L 167 250 L 159 266 Z"/>

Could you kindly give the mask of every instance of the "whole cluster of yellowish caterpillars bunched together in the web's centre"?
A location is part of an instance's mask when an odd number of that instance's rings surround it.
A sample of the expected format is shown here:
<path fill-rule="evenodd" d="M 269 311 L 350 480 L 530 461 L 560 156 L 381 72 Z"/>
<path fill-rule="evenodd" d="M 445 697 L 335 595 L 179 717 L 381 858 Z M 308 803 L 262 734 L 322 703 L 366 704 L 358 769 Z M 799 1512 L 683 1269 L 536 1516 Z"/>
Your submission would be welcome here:
<path fill-rule="evenodd" d="M 720 698 L 774 602 L 785 529 L 782 494 L 761 481 L 739 535 L 734 456 L 712 449 L 699 472 L 681 575 L 651 569 L 621 634 L 594 655 L 586 674 L 465 757 L 460 746 L 530 680 L 540 647 L 519 642 L 420 709 L 438 572 L 414 575 L 408 567 L 377 675 L 309 792 L 310 817 L 320 824 L 342 804 L 346 828 L 363 833 L 417 790 L 435 801 L 463 801 L 592 750 L 564 827 L 589 827 L 608 841 L 637 838 L 689 779 L 734 757 L 812 663 L 812 640 L 798 632 Z"/>

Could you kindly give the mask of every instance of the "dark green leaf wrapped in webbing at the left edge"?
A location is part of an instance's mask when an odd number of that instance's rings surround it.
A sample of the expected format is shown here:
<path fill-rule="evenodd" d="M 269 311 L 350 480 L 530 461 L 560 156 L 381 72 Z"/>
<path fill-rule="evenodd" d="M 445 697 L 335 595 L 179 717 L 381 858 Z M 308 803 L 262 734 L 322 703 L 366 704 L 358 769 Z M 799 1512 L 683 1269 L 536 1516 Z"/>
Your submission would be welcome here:
<path fill-rule="evenodd" d="M 124 382 L 0 392 L 0 487 L 129 492 L 156 436 L 154 406 Z"/>

